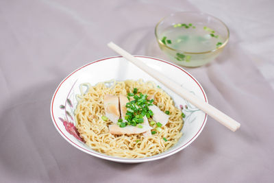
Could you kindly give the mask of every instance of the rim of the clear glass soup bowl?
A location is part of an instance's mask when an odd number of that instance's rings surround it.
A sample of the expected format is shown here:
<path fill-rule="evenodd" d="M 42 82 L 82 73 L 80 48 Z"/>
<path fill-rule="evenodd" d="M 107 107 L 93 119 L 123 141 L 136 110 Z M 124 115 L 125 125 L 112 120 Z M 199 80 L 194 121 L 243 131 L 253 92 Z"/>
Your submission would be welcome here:
<path fill-rule="evenodd" d="M 203 51 L 203 52 L 189 52 L 189 51 L 182 51 L 180 49 L 173 49 L 171 47 L 169 47 L 168 45 L 164 45 L 164 43 L 162 42 L 162 40 L 160 40 L 158 38 L 158 26 L 160 25 L 160 23 L 162 23 L 162 21 L 164 21 L 164 19 L 166 18 L 169 18 L 171 16 L 176 16 L 177 14 L 198 14 L 198 15 L 201 15 L 201 16 L 210 16 L 212 19 L 215 19 L 216 21 L 219 21 L 219 23 L 221 23 L 225 29 L 227 30 L 227 36 L 225 38 L 225 42 L 223 42 L 223 44 L 220 46 L 220 47 L 217 47 L 215 49 L 211 49 L 209 51 Z M 167 16 L 164 16 L 162 19 L 160 19 L 160 21 L 156 24 L 155 26 L 155 30 L 154 30 L 154 34 L 155 34 L 155 37 L 158 41 L 158 44 L 168 48 L 168 49 L 171 49 L 172 51 L 176 51 L 176 52 L 179 52 L 179 53 L 186 53 L 186 54 L 192 54 L 192 55 L 195 55 L 195 54 L 204 54 L 204 53 L 212 53 L 214 51 L 217 51 L 219 49 L 222 49 L 223 47 L 225 47 L 225 45 L 227 45 L 227 42 L 229 40 L 229 29 L 227 27 L 227 25 L 225 25 L 225 23 L 223 23 L 223 21 L 221 21 L 220 19 L 216 18 L 215 16 L 212 16 L 210 14 L 207 14 L 207 13 L 204 13 L 204 12 L 174 12 L 174 13 L 171 13 Z"/>

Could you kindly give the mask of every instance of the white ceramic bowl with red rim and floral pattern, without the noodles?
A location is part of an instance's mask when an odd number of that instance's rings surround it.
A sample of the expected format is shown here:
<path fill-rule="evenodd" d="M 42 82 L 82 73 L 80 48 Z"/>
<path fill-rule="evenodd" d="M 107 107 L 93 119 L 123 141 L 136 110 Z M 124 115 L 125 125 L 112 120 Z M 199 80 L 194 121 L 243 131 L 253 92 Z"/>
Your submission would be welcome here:
<path fill-rule="evenodd" d="M 148 66 L 151 66 L 153 69 L 159 71 L 163 75 L 166 75 L 166 77 L 169 77 L 182 87 L 190 90 L 190 92 L 197 95 L 197 97 L 200 97 L 204 101 L 208 102 L 206 93 L 201 87 L 201 84 L 199 84 L 199 82 L 197 82 L 197 80 L 190 75 L 190 73 L 184 71 L 181 67 L 158 58 L 151 58 L 147 56 L 137 57 Z M 98 82 L 105 82 L 113 79 L 119 81 L 138 79 L 153 81 L 173 98 L 175 101 L 175 106 L 178 108 L 183 107 L 182 111 L 186 114 L 186 117 L 184 118 L 184 127 L 182 128 L 183 135 L 176 145 L 161 154 L 147 158 L 117 158 L 94 151 L 79 140 L 76 128 L 74 127 L 75 121 L 73 117 L 73 112 L 77 106 L 75 95 L 80 93 L 79 84 L 89 82 L 90 84 L 95 85 Z M 195 141 L 203 130 L 203 127 L 206 125 L 207 117 L 207 114 L 201 110 L 198 110 L 195 106 L 192 106 L 186 100 L 169 90 L 169 88 L 166 88 L 157 82 L 157 80 L 154 80 L 153 77 L 138 69 L 138 67 L 134 64 L 128 62 L 124 58 L 121 58 L 121 56 L 103 58 L 95 62 L 90 62 L 89 64 L 73 71 L 73 73 L 69 74 L 59 84 L 51 100 L 51 119 L 56 127 L 56 130 L 64 139 L 66 139 L 66 141 L 87 154 L 115 162 L 148 162 L 171 156 Z"/>

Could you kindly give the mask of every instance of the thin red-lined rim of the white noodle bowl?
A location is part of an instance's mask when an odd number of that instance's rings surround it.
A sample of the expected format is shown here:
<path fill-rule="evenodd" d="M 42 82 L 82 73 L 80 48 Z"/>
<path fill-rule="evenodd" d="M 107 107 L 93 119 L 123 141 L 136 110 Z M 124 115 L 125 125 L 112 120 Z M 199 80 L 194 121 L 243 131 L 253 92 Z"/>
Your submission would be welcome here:
<path fill-rule="evenodd" d="M 192 80 L 194 80 L 196 82 L 196 84 L 199 86 L 199 88 L 201 89 L 201 92 L 203 93 L 203 97 L 205 99 L 205 101 L 208 103 L 208 99 L 206 97 L 206 93 L 205 91 L 203 90 L 203 88 L 201 87 L 201 84 L 199 84 L 199 82 L 194 78 L 192 77 L 192 75 L 190 75 L 190 73 L 188 73 L 187 71 L 185 71 L 184 69 L 182 69 L 181 67 L 171 63 L 171 62 L 167 62 L 165 60 L 160 60 L 158 58 L 153 58 L 153 57 L 149 57 L 149 56 L 136 56 L 138 58 L 150 58 L 150 59 L 153 59 L 153 60 L 158 60 L 160 62 L 164 62 L 166 64 L 170 64 L 172 66 L 175 66 L 177 69 L 183 71 L 184 73 L 186 73 Z M 91 148 L 84 148 L 84 147 L 81 147 L 79 145 L 77 145 L 77 143 L 74 143 L 71 138 L 69 138 L 68 136 L 66 136 L 62 130 L 60 130 L 60 127 L 58 126 L 58 124 L 56 123 L 55 121 L 55 117 L 54 117 L 54 113 L 53 113 L 53 103 L 54 103 L 54 100 L 55 100 L 55 96 L 56 94 L 58 93 L 58 90 L 59 88 L 62 86 L 62 84 L 69 78 L 71 77 L 71 75 L 73 75 L 74 73 L 76 73 L 77 71 L 83 69 L 84 67 L 86 66 L 89 66 L 90 64 L 95 64 L 97 62 L 102 62 L 103 60 L 109 60 L 109 59 L 112 59 L 112 58 L 122 58 L 122 56 L 112 56 L 112 57 L 108 57 L 108 58 L 102 58 L 100 60 L 95 60 L 94 62 L 90 62 L 84 66 L 81 66 L 79 67 L 79 69 L 76 69 L 75 71 L 73 71 L 71 74 L 69 74 L 66 78 L 64 78 L 64 80 L 62 80 L 62 82 L 60 82 L 60 84 L 58 85 L 58 88 L 55 90 L 54 94 L 53 94 L 53 97 L 51 99 L 51 119 L 53 121 L 53 124 L 55 126 L 55 128 L 58 130 L 58 132 L 61 134 L 61 136 L 64 137 L 64 139 L 66 139 L 66 141 L 68 141 L 69 143 L 71 143 L 71 145 L 73 145 L 74 147 L 76 147 L 77 149 L 81 150 L 81 151 L 84 151 L 92 156 L 96 156 L 98 158 L 103 158 L 105 160 L 112 160 L 112 161 L 115 161 L 115 162 L 127 162 L 127 163 L 136 163 L 136 162 L 147 162 L 147 161 L 151 161 L 151 160 L 158 160 L 158 159 L 161 159 L 161 158 L 165 158 L 167 156 L 171 156 L 175 153 L 177 153 L 178 151 L 181 151 L 182 149 L 184 149 L 185 147 L 187 147 L 188 145 L 190 145 L 190 143 L 192 143 L 193 141 L 195 141 L 195 139 L 199 136 L 199 134 L 201 133 L 201 131 L 203 130 L 203 127 L 206 125 L 206 120 L 208 118 L 208 114 L 205 114 L 205 117 L 203 119 L 203 123 L 201 125 L 201 127 L 199 128 L 198 132 L 195 134 L 195 136 L 193 136 L 190 141 L 188 141 L 187 143 L 185 143 L 184 145 L 181 145 L 179 147 L 177 147 L 176 149 L 173 149 L 172 151 L 169 151 L 167 152 L 166 154 L 158 154 L 158 155 L 155 155 L 155 156 L 149 156 L 149 157 L 146 157 L 146 158 L 118 158 L 118 157 L 115 157 L 115 156 L 108 156 L 108 155 L 105 155 L 105 154 L 101 154 L 97 151 L 90 151 Z"/>

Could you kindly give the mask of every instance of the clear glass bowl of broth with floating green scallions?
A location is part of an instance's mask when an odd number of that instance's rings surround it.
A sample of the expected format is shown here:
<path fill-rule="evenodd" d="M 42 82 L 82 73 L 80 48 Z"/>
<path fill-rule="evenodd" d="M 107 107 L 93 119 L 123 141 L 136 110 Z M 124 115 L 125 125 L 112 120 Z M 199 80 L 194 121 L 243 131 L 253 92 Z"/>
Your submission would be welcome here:
<path fill-rule="evenodd" d="M 229 40 L 229 29 L 203 12 L 176 12 L 157 23 L 155 36 L 172 62 L 196 67 L 219 56 Z"/>

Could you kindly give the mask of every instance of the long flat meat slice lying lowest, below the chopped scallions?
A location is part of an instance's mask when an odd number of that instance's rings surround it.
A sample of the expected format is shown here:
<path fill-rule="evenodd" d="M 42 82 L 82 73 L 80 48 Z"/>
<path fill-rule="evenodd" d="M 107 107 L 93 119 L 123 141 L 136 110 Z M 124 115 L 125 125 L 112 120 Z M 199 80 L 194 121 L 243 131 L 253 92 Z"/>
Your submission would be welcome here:
<path fill-rule="evenodd" d="M 110 134 L 116 134 L 116 135 L 121 135 L 121 134 L 141 134 L 144 132 L 147 132 L 148 130 L 151 130 L 152 127 L 149 125 L 142 125 L 142 128 L 132 126 L 132 125 L 127 125 L 126 127 L 119 127 L 119 125 L 110 125 L 109 130 Z"/>

